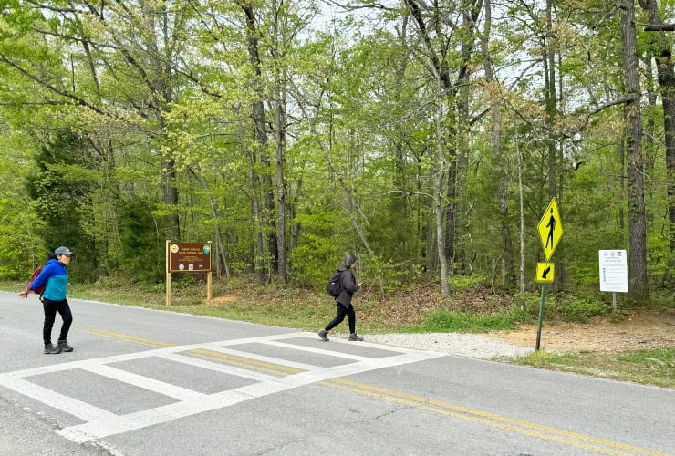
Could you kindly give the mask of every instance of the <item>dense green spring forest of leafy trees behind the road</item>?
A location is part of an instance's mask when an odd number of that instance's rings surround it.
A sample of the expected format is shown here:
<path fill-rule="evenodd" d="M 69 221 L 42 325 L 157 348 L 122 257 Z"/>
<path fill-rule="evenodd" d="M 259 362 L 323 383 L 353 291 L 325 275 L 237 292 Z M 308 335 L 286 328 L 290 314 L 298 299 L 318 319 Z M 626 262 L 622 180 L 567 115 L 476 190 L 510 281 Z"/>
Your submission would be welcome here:
<path fill-rule="evenodd" d="M 672 2 L 0 0 L 0 276 L 675 282 Z M 646 27 L 647 26 L 647 27 Z"/>

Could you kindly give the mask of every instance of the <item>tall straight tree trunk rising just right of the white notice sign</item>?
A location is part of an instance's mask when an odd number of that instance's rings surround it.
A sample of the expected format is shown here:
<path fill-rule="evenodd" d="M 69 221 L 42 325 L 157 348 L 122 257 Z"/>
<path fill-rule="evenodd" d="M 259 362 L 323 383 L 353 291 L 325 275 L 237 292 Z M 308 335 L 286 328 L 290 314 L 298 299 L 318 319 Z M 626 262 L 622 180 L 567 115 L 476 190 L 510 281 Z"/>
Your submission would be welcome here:
<path fill-rule="evenodd" d="M 649 299 L 647 276 L 647 223 L 642 163 L 642 115 L 638 51 L 635 32 L 635 4 L 621 2 L 621 36 L 623 38 L 623 67 L 626 81 L 627 155 L 628 155 L 628 294 L 635 300 Z"/>

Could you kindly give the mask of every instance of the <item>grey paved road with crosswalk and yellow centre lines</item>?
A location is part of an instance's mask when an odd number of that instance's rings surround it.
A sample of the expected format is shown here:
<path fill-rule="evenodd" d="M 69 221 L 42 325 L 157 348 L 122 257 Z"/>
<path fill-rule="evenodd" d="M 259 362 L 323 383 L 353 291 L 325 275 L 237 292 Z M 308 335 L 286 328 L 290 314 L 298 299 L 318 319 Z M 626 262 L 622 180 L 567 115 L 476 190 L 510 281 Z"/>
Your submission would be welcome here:
<path fill-rule="evenodd" d="M 0 292 L 2 455 L 675 454 L 671 389 L 71 307 L 75 351 L 47 356 L 36 296 Z"/>

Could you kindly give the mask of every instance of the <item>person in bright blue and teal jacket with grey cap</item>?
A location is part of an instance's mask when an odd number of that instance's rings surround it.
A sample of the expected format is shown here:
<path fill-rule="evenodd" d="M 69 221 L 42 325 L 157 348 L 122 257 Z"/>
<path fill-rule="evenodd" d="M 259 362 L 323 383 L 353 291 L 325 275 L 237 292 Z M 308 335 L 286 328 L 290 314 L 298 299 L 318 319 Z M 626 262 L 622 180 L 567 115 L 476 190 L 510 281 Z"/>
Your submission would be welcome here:
<path fill-rule="evenodd" d="M 47 264 L 40 275 L 30 285 L 25 292 L 19 293 L 19 297 L 27 297 L 32 291 L 36 293 L 42 285 L 45 286 L 45 292 L 42 295 L 42 308 L 45 311 L 45 325 L 42 328 L 42 338 L 45 342 L 45 355 L 56 355 L 61 351 L 73 351 L 73 347 L 68 345 L 68 330 L 73 323 L 73 315 L 70 313 L 70 306 L 66 299 L 66 287 L 68 286 L 68 272 L 66 266 L 70 264 L 70 252 L 68 247 L 58 247 L 54 254 L 47 258 Z M 58 337 L 57 347 L 52 345 L 52 327 L 57 318 L 57 312 L 63 319 L 61 333 Z"/>

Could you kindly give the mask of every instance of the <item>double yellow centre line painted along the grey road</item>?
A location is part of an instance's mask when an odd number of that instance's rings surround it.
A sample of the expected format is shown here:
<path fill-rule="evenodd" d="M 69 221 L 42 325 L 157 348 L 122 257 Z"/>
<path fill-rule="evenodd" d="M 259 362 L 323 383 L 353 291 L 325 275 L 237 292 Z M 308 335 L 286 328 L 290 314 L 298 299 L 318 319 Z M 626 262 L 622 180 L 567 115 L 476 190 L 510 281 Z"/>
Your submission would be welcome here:
<path fill-rule="evenodd" d="M 173 344 L 167 344 L 157 340 L 128 336 L 101 329 L 88 329 L 86 332 L 98 336 L 113 337 L 129 342 L 136 342 L 151 347 L 174 347 Z M 236 357 L 233 355 L 227 355 L 202 348 L 186 351 L 185 354 L 189 354 L 196 358 L 204 358 L 214 362 L 257 370 L 267 374 L 276 375 L 278 377 L 285 377 L 302 372 L 301 369 L 297 368 L 289 368 L 287 366 L 266 363 L 264 361 L 258 361 L 250 358 Z M 544 426 L 529 421 L 514 420 L 483 410 L 469 409 L 467 407 L 451 404 L 449 402 L 443 402 L 441 400 L 423 398 L 421 396 L 415 396 L 412 394 L 395 391 L 393 389 L 379 388 L 344 378 L 331 378 L 320 381 L 318 384 L 330 388 L 343 389 L 351 393 L 367 396 L 373 399 L 386 400 L 387 402 L 405 405 L 407 407 L 416 409 L 422 409 L 432 413 L 438 413 L 440 415 L 449 416 L 459 420 L 471 421 L 484 426 L 489 426 L 491 428 L 509 430 L 519 434 L 536 437 L 542 440 L 555 441 L 556 443 L 561 443 L 588 451 L 597 451 L 598 453 L 602 454 L 647 454 L 650 456 L 668 456 L 666 453 L 661 453 L 659 451 L 639 448 L 612 440 L 597 439 L 584 434 L 569 432 L 566 430 L 558 430 L 550 426 Z"/>

